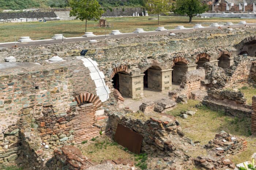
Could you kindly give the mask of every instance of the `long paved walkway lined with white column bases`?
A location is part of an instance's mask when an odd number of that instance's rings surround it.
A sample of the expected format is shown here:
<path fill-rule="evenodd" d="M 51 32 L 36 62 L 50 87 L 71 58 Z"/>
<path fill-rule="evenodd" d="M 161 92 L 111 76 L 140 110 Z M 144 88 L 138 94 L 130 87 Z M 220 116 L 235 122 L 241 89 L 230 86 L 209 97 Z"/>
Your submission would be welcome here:
<path fill-rule="evenodd" d="M 256 23 L 250 23 L 247 24 L 248 26 L 256 26 Z M 231 25 L 231 26 L 222 26 L 221 28 L 238 28 L 238 27 L 245 27 L 244 24 L 236 24 L 236 25 Z M 213 29 L 218 29 L 218 27 L 205 27 L 205 28 L 196 28 L 196 30 L 213 30 Z M 191 32 L 193 31 L 193 28 L 189 29 L 169 29 L 167 31 L 148 31 L 144 33 L 123 33 L 120 35 L 106 35 L 106 38 L 108 39 L 114 39 L 114 38 L 121 38 L 121 37 L 134 37 L 134 36 L 142 36 L 142 35 L 157 35 L 157 34 L 165 34 L 165 33 L 170 33 L 170 32 Z M 105 35 L 100 35 L 100 36 L 95 36 L 95 37 L 72 37 L 65 39 L 64 42 L 76 42 L 76 41 L 86 41 L 90 39 L 104 39 Z M 38 46 L 38 45 L 45 45 L 45 44 L 57 44 L 57 43 L 62 43 L 62 40 L 38 40 L 38 41 L 31 41 L 31 42 L 26 42 L 26 43 L 17 43 L 18 47 L 22 46 Z M 13 47 L 15 43 L 1 43 L 1 47 Z"/>

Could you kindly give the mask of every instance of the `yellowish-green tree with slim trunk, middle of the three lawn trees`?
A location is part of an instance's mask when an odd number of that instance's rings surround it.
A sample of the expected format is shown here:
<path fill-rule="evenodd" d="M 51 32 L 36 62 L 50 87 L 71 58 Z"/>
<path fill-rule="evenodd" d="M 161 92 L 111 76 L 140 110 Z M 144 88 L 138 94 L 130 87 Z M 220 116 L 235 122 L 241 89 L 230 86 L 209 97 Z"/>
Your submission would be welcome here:
<path fill-rule="evenodd" d="M 169 12 L 170 3 L 169 0 L 148 0 L 147 9 L 150 13 L 157 14 L 159 25 L 159 14 Z"/>

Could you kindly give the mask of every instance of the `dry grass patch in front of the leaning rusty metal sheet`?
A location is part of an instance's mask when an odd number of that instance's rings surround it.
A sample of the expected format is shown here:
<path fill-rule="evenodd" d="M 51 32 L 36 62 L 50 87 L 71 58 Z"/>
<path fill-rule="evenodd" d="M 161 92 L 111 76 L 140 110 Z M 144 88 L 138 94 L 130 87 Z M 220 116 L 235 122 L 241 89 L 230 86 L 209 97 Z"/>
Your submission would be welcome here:
<path fill-rule="evenodd" d="M 87 142 L 84 141 L 77 147 L 82 151 L 83 155 L 95 163 L 100 163 L 106 159 L 134 159 L 134 155 L 131 152 L 105 135 L 98 136 Z"/>

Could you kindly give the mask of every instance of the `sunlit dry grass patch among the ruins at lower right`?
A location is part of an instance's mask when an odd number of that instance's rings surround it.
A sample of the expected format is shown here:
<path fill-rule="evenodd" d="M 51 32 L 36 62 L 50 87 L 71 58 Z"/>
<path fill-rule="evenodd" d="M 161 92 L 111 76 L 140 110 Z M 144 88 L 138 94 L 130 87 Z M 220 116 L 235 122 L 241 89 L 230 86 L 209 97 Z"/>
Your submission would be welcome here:
<path fill-rule="evenodd" d="M 251 160 L 252 154 L 256 151 L 256 138 L 251 135 L 251 119 L 250 118 L 234 118 L 227 116 L 223 112 L 211 111 L 207 107 L 196 108 L 199 103 L 196 100 L 188 100 L 187 104 L 178 104 L 174 110 L 167 112 L 176 116 L 181 124 L 182 131 L 185 136 L 192 141 L 200 141 L 205 145 L 211 139 L 214 139 L 215 134 L 224 130 L 227 133 L 245 138 L 248 142 L 248 148 L 245 152 L 237 155 L 230 155 L 235 163 Z M 194 116 L 189 116 L 187 119 L 180 118 L 180 111 L 192 110 L 196 111 Z"/>

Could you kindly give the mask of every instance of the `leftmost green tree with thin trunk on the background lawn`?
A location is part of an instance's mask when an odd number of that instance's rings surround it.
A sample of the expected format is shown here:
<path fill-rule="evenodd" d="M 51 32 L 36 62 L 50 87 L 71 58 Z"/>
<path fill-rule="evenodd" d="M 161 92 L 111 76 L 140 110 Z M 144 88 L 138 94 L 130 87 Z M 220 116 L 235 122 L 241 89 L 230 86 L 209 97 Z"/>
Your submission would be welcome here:
<path fill-rule="evenodd" d="M 101 18 L 103 10 L 97 0 L 70 0 L 69 6 L 72 8 L 69 16 L 75 16 L 81 21 L 85 20 L 85 32 L 87 21 L 97 21 Z"/>

